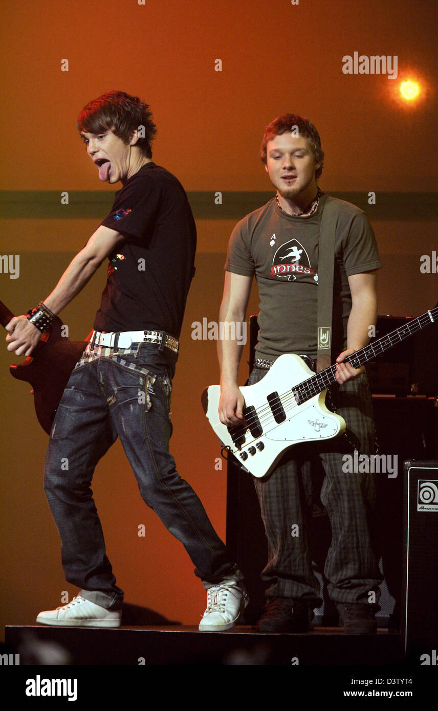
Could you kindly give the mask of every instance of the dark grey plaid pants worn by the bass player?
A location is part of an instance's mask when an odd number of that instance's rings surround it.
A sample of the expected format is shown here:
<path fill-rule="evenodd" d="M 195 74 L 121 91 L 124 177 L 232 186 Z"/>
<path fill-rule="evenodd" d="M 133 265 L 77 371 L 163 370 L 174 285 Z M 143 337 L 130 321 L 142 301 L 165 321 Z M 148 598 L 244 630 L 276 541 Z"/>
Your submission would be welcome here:
<path fill-rule="evenodd" d="M 262 380 L 266 373 L 254 368 L 248 385 Z M 383 577 L 375 545 L 375 474 L 346 474 L 342 470 L 343 454 L 353 454 L 354 447 L 359 454 L 375 453 L 373 404 L 366 374 L 331 386 L 326 405 L 345 419 L 348 439 L 343 434 L 325 442 L 297 444 L 284 454 L 270 476 L 254 479 L 268 541 L 269 560 L 262 571 L 262 579 L 270 583 L 266 596 L 300 599 L 311 607 L 321 604 L 309 550 L 309 521 L 319 493 L 315 489 L 319 470 L 324 477 L 321 502 L 332 531 L 324 567 L 329 596 L 335 602 L 368 603 L 368 593 L 374 591 L 378 602 Z"/>

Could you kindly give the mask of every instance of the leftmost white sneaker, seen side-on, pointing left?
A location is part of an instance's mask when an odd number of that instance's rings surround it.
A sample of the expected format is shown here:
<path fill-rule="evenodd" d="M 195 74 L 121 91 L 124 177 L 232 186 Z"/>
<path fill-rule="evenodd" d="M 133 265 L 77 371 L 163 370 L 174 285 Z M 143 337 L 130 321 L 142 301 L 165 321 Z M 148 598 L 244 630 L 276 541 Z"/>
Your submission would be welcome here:
<path fill-rule="evenodd" d="M 66 627 L 119 627 L 122 610 L 107 610 L 82 595 L 76 595 L 67 605 L 40 612 L 36 621 Z"/>

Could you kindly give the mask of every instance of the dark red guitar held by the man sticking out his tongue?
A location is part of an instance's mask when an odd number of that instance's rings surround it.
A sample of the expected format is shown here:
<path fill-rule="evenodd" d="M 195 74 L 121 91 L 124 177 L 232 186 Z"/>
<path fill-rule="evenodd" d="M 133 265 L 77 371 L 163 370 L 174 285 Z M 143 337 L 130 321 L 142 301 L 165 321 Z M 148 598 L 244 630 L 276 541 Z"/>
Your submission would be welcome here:
<path fill-rule="evenodd" d="M 0 305 L 1 323 L 6 326 L 14 314 L 1 301 Z M 32 385 L 36 417 L 47 434 L 50 434 L 70 373 L 87 346 L 87 341 L 70 341 L 62 336 L 62 326 L 62 321 L 57 317 L 50 331 L 43 333 L 32 355 L 20 365 L 9 366 L 14 378 Z"/>

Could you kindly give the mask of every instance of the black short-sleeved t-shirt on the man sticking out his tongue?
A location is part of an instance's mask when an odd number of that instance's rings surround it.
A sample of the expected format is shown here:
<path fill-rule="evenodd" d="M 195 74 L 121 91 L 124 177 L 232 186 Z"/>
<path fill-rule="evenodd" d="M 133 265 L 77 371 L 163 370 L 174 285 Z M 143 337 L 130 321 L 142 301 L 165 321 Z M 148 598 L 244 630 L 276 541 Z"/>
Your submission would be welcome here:
<path fill-rule="evenodd" d="M 96 331 L 181 332 L 196 225 L 181 183 L 152 161 L 115 193 L 102 225 L 126 236 L 108 257 Z"/>

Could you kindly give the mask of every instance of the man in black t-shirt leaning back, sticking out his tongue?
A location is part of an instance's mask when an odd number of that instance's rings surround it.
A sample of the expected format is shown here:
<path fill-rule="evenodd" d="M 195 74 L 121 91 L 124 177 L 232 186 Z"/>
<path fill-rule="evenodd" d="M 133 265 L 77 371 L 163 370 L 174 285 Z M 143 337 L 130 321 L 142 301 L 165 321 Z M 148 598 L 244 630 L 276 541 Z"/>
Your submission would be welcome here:
<path fill-rule="evenodd" d="M 120 438 L 144 501 L 181 540 L 208 590 L 199 625 L 230 629 L 247 603 L 242 574 L 169 454 L 172 378 L 194 274 L 196 226 L 181 183 L 151 161 L 149 106 L 124 92 L 90 102 L 78 117 L 102 181 L 122 182 L 114 205 L 53 292 L 7 326 L 9 351 L 29 355 L 54 314 L 72 301 L 107 257 L 108 278 L 90 341 L 65 387 L 46 455 L 44 486 L 62 541 L 72 602 L 43 611 L 50 625 L 117 627 L 117 587 L 90 483 Z M 63 462 L 68 461 L 65 471 Z"/>

